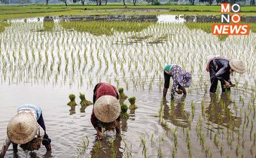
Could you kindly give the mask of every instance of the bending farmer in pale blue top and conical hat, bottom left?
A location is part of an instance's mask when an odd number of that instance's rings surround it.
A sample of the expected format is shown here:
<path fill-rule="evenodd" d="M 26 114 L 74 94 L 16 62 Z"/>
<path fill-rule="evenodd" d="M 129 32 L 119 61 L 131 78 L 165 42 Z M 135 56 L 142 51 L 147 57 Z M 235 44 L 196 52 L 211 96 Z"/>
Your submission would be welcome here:
<path fill-rule="evenodd" d="M 41 143 L 47 151 L 51 150 L 50 138 L 46 134 L 44 118 L 41 108 L 37 105 L 20 105 L 16 114 L 8 123 L 5 143 L 0 157 L 4 157 L 9 145 L 13 144 L 14 153 L 17 153 L 17 144 L 23 150 L 38 150 Z"/>

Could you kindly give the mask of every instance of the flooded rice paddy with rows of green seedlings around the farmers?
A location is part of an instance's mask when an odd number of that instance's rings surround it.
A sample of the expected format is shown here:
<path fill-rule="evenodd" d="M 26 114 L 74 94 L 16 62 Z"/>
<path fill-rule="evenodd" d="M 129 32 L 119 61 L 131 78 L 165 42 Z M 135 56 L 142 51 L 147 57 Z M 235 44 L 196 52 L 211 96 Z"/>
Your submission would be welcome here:
<path fill-rule="evenodd" d="M 256 33 L 218 37 L 209 23 L 46 21 L 0 22 L 0 142 L 8 121 L 23 103 L 40 105 L 52 152 L 6 157 L 256 157 Z M 176 18 L 177 19 L 177 18 Z M 231 77 L 230 94 L 209 94 L 207 59 L 242 59 L 244 74 Z M 163 67 L 180 65 L 192 76 L 187 96 L 163 99 Z M 136 110 L 121 120 L 121 135 L 96 140 L 90 123 L 99 82 L 123 87 Z M 172 80 L 171 80 L 172 85 Z M 67 103 L 75 95 L 76 106 Z M 126 105 L 130 105 L 128 100 Z M 255 122 L 254 122 L 255 121 Z"/>

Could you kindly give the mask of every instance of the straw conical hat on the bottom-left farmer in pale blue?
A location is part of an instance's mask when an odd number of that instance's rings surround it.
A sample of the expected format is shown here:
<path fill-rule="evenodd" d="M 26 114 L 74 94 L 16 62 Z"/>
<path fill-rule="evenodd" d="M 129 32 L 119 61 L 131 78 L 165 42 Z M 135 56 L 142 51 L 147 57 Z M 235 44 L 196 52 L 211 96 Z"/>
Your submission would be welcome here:
<path fill-rule="evenodd" d="M 11 142 L 25 144 L 35 138 L 38 130 L 38 123 L 28 113 L 22 112 L 15 115 L 7 127 L 7 135 Z"/>

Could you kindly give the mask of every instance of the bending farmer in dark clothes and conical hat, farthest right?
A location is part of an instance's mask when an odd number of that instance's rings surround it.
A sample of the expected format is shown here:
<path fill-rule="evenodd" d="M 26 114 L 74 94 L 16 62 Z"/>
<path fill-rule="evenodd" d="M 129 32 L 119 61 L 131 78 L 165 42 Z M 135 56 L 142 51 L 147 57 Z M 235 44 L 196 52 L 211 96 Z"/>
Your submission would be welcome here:
<path fill-rule="evenodd" d="M 230 90 L 233 84 L 230 82 L 230 74 L 233 75 L 233 71 L 242 74 L 245 72 L 245 65 L 239 59 L 224 59 L 222 57 L 216 57 L 210 59 L 206 71 L 209 71 L 211 78 L 210 92 L 215 93 L 218 86 L 218 81 L 221 81 L 222 92 Z"/>

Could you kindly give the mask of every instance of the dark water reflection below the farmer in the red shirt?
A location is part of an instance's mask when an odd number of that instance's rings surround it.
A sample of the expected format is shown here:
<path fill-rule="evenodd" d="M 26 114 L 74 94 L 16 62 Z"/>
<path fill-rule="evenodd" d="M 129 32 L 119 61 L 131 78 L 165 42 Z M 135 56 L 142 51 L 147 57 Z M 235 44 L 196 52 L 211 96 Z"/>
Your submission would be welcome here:
<path fill-rule="evenodd" d="M 93 149 L 90 151 L 92 158 L 101 158 L 101 157 L 123 157 L 123 152 L 120 151 L 122 137 L 116 135 L 114 139 L 105 138 L 102 141 L 95 141 Z"/>

